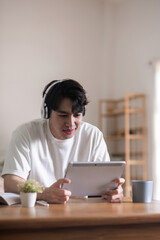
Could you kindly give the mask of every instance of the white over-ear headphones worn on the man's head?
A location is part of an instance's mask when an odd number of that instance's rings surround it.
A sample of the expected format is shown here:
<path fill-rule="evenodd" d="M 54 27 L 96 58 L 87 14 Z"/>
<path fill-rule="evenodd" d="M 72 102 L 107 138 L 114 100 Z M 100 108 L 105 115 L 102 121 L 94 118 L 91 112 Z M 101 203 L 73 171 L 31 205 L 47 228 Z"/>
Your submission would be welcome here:
<path fill-rule="evenodd" d="M 42 102 L 42 107 L 41 107 L 41 117 L 42 118 L 45 118 L 45 119 L 48 119 L 49 118 L 49 110 L 48 110 L 48 107 L 47 107 L 47 104 L 45 102 L 46 100 L 46 96 L 49 92 L 49 90 L 54 87 L 54 85 L 56 85 L 57 83 L 60 83 L 62 82 L 62 80 L 58 80 L 56 82 L 53 82 L 44 92 L 44 96 L 43 96 L 43 102 Z"/>

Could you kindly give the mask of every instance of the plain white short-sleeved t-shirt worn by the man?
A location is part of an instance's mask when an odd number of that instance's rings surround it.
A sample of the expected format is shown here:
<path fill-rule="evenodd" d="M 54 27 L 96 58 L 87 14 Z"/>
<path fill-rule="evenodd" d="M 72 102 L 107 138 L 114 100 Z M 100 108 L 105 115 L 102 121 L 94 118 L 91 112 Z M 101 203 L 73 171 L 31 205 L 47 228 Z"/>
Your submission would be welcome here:
<path fill-rule="evenodd" d="M 13 132 L 2 176 L 14 174 L 49 187 L 64 178 L 70 161 L 109 160 L 107 146 L 97 127 L 82 122 L 72 138 L 59 140 L 52 135 L 49 121 L 39 119 Z"/>

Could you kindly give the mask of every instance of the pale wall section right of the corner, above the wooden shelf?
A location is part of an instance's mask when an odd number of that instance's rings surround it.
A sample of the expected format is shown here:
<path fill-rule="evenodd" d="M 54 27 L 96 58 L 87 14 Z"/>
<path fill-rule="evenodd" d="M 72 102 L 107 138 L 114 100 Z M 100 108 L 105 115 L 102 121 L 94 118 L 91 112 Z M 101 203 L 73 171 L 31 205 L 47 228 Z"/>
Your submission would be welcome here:
<path fill-rule="evenodd" d="M 160 1 L 123 0 L 114 6 L 114 97 L 126 93 L 147 96 L 148 177 L 152 169 L 152 109 L 154 71 L 149 62 L 160 58 Z"/>

